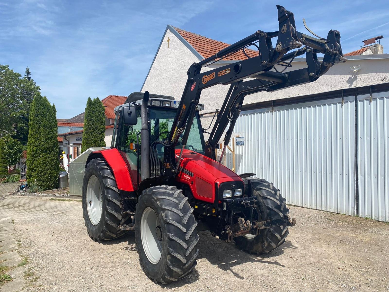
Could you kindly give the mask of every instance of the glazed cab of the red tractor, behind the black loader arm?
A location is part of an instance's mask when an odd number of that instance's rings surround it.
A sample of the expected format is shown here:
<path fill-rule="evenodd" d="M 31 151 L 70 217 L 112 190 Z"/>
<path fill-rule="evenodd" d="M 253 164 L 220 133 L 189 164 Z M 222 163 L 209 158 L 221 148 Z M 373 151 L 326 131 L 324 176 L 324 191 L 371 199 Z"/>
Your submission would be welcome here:
<path fill-rule="evenodd" d="M 141 128 L 142 128 L 142 99 L 144 93 L 131 93 L 125 104 L 115 107 L 115 123 L 112 134 L 111 148 L 116 148 L 128 161 L 131 172 L 136 176 L 136 185 L 140 183 L 142 174 L 142 149 L 141 149 Z M 172 129 L 173 120 L 177 113 L 177 108 L 180 102 L 174 100 L 171 96 L 149 94 L 147 102 L 147 114 L 145 116 L 147 127 L 149 129 L 148 148 L 155 141 L 166 141 L 170 130 Z M 204 109 L 204 105 L 199 104 L 196 107 L 195 117 L 191 126 L 190 135 L 185 149 L 194 151 L 196 153 L 204 154 L 205 142 L 202 132 L 199 111 Z M 181 148 L 180 135 L 176 149 Z M 163 144 L 158 144 L 156 147 L 156 156 L 158 161 L 155 164 L 162 164 Z M 147 155 L 148 157 L 149 155 Z M 155 171 L 151 171 L 151 177 L 158 176 Z"/>

